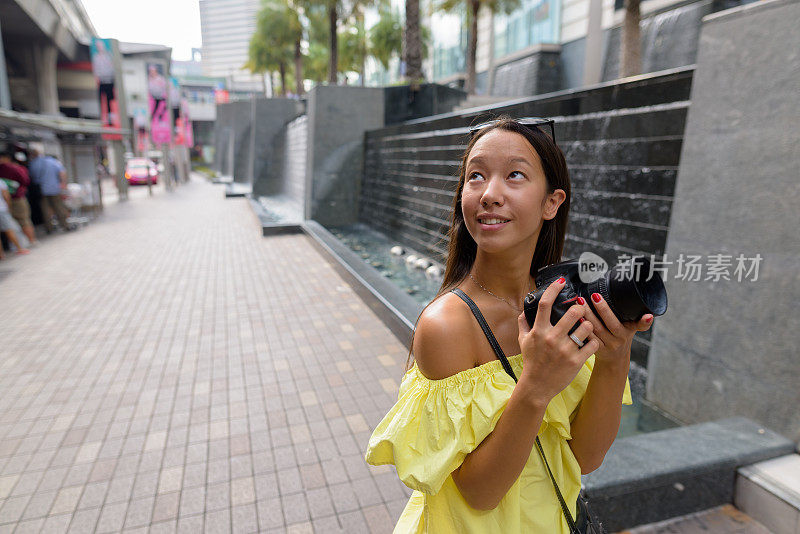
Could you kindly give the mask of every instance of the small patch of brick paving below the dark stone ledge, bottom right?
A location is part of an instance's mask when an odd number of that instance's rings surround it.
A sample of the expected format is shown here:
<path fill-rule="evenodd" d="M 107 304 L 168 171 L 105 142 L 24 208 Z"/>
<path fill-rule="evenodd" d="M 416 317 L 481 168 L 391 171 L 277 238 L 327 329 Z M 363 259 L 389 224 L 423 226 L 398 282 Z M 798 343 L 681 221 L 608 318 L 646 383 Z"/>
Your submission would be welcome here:
<path fill-rule="evenodd" d="M 758 521 L 733 505 L 726 504 L 676 517 L 667 521 L 641 525 L 620 534 L 771 534 Z"/>

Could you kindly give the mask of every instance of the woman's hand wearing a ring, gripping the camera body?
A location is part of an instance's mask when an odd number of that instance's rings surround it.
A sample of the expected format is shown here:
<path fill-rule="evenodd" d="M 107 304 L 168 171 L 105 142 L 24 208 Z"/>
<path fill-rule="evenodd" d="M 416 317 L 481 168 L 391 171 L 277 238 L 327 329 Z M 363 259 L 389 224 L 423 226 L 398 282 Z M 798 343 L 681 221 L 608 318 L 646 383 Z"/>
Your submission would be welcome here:
<path fill-rule="evenodd" d="M 548 286 L 539 300 L 532 328 L 528 327 L 524 312 L 517 319 L 523 361 L 519 383 L 530 388 L 531 400 L 537 404 L 543 402 L 545 406 L 575 379 L 584 362 L 601 345 L 600 339 L 592 333 L 592 322 L 583 320 L 588 306 L 575 304 L 555 326 L 550 324 L 553 303 L 563 288 L 563 278 Z M 578 321 L 582 322 L 573 334 L 578 339 L 588 338 L 583 347 L 578 347 L 568 335 Z"/>

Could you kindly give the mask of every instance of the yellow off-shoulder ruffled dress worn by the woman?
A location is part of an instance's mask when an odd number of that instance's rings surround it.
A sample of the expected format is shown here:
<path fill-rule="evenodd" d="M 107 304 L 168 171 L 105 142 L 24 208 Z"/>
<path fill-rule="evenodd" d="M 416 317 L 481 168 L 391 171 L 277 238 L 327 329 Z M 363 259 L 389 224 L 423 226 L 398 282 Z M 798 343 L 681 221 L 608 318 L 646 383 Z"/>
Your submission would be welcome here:
<path fill-rule="evenodd" d="M 511 356 L 509 362 L 520 376 L 522 355 Z M 567 440 L 593 366 L 594 355 L 553 398 L 539 428 L 545 456 L 573 517 L 581 470 Z M 395 534 L 569 534 L 535 446 L 519 478 L 494 510 L 470 507 L 450 476 L 494 429 L 515 385 L 500 360 L 442 380 L 429 380 L 416 364 L 406 373 L 397 403 L 375 428 L 366 453 L 369 464 L 394 464 L 400 480 L 414 490 Z M 621 400 L 632 403 L 627 381 Z"/>

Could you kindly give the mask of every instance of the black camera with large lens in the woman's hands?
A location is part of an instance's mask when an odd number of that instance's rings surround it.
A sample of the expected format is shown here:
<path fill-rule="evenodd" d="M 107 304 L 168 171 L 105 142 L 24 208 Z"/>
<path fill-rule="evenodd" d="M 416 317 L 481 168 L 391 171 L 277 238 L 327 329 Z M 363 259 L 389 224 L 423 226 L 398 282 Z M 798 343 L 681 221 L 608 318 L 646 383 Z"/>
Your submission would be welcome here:
<path fill-rule="evenodd" d="M 591 299 L 592 293 L 602 295 L 620 322 L 638 321 L 646 313 L 658 316 L 667 311 L 667 290 L 664 282 L 658 272 L 650 272 L 650 261 L 644 256 L 633 256 L 618 263 L 588 283 L 581 279 L 582 274 L 585 278 L 588 277 L 586 273 L 581 273 L 582 268 L 586 269 L 586 264 L 571 259 L 547 265 L 537 271 L 536 290 L 528 293 L 524 302 L 525 318 L 530 327 L 533 327 L 539 300 L 545 290 L 562 276 L 566 283 L 553 303 L 550 314 L 550 323 L 553 325 L 564 316 L 570 306 L 577 303 L 578 297 L 583 297 L 592 312 L 602 321 Z M 574 332 L 579 325 L 580 322 L 575 323 L 569 333 Z"/>

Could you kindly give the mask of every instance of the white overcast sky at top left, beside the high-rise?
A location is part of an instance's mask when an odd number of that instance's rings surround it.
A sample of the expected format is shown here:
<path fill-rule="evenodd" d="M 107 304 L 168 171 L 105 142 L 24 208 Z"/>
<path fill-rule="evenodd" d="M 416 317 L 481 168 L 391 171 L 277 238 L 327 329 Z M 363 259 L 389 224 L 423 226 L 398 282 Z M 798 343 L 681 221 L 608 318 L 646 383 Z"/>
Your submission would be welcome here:
<path fill-rule="evenodd" d="M 172 59 L 200 48 L 198 0 L 81 0 L 100 37 L 172 47 Z"/>

